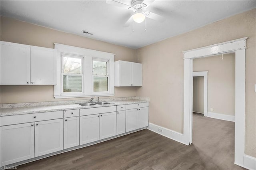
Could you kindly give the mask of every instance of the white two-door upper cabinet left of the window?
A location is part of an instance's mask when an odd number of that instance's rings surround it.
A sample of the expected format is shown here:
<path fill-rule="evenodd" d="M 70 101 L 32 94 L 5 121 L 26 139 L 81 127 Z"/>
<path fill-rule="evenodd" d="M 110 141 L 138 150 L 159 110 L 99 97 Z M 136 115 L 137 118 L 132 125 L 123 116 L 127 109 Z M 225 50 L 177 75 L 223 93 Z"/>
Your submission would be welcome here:
<path fill-rule="evenodd" d="M 56 85 L 56 50 L 1 41 L 1 85 Z"/>

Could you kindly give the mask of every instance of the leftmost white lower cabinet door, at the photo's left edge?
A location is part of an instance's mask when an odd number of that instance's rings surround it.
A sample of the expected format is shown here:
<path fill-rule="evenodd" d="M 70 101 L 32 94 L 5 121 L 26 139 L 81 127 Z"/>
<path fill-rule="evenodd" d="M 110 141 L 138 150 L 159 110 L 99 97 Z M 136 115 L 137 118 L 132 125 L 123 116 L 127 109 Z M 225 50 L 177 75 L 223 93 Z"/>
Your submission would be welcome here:
<path fill-rule="evenodd" d="M 34 123 L 1 127 L 1 166 L 34 158 Z"/>

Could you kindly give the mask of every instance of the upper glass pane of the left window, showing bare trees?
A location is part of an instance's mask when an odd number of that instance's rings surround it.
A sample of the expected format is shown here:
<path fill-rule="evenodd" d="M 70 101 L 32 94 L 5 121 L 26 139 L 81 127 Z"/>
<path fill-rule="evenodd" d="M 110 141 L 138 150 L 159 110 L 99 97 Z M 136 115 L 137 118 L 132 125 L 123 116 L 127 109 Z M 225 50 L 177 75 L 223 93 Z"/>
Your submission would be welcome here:
<path fill-rule="evenodd" d="M 64 57 L 63 56 L 63 73 L 80 74 L 82 67 L 82 58 Z"/>

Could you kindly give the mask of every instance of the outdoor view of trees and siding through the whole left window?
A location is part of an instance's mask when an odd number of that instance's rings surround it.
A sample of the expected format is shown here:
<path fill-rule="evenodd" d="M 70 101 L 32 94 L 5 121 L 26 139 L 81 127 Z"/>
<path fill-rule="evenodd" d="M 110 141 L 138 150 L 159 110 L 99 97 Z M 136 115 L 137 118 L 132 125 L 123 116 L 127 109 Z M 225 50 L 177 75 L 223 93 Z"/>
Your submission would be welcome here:
<path fill-rule="evenodd" d="M 62 55 L 63 92 L 82 92 L 82 57 Z"/>

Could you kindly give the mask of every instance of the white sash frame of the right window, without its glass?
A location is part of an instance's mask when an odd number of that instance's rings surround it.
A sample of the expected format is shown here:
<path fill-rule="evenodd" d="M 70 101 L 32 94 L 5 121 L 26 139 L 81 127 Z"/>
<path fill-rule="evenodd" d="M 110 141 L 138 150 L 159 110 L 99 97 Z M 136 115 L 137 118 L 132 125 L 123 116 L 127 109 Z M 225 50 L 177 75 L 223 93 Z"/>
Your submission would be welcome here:
<path fill-rule="evenodd" d="M 94 75 L 93 74 L 93 61 L 102 61 L 102 62 L 107 63 L 106 75 Z M 100 95 L 100 94 L 108 94 L 109 93 L 109 71 L 108 70 L 109 70 L 109 60 L 108 59 L 101 59 L 101 58 L 92 57 L 92 94 Z M 94 82 L 93 82 L 94 77 L 108 77 L 108 90 L 107 91 L 94 91 Z"/>

